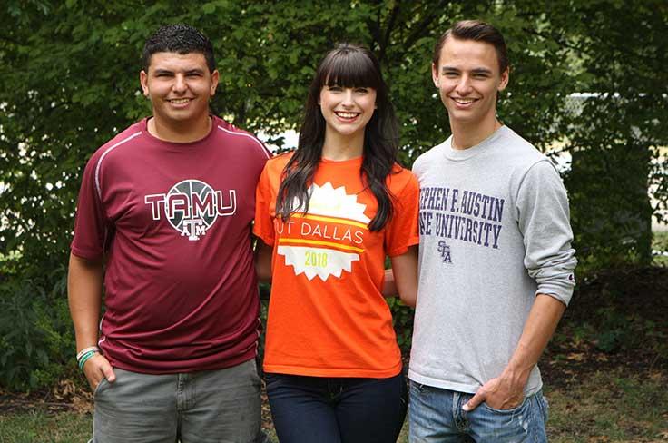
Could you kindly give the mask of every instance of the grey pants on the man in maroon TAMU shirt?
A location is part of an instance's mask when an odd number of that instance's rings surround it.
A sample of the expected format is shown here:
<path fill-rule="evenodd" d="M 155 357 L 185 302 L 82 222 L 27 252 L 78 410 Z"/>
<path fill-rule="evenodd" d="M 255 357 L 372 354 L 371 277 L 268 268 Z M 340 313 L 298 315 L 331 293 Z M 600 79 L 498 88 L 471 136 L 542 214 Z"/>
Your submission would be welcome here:
<path fill-rule="evenodd" d="M 94 443 L 256 443 L 260 377 L 255 359 L 183 374 L 113 369 L 95 389 Z"/>

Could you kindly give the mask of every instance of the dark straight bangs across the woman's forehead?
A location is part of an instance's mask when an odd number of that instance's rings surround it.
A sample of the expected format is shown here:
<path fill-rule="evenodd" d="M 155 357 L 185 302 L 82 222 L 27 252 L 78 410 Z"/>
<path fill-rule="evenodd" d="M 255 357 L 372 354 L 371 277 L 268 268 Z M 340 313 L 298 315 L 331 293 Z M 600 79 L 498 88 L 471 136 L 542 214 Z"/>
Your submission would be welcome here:
<path fill-rule="evenodd" d="M 366 48 L 364 49 L 366 50 Z M 343 44 L 322 61 L 319 71 L 320 88 L 343 86 L 346 88 L 368 87 L 380 89 L 378 79 L 382 78 L 379 66 L 359 47 Z"/>

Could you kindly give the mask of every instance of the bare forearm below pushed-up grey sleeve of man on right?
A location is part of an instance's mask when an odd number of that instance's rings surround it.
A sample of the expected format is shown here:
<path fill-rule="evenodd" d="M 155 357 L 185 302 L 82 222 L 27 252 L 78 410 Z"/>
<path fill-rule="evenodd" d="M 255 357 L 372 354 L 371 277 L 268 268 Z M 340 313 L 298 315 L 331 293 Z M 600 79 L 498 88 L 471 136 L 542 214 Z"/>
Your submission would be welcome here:
<path fill-rule="evenodd" d="M 522 336 L 502 377 L 511 379 L 513 384 L 524 388 L 531 369 L 535 367 L 547 342 L 555 333 L 556 325 L 564 315 L 565 308 L 565 304 L 554 297 L 545 294 L 536 296 Z"/>

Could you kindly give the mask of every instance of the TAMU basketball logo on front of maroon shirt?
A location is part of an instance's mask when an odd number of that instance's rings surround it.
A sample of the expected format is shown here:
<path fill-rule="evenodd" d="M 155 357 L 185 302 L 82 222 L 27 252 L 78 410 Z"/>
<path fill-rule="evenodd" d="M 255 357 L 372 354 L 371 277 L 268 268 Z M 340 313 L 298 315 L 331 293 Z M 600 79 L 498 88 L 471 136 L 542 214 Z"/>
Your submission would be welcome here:
<path fill-rule="evenodd" d="M 197 241 L 219 216 L 237 211 L 237 193 L 231 189 L 226 197 L 205 182 L 184 180 L 166 194 L 146 195 L 144 202 L 151 205 L 153 220 L 160 220 L 164 214 L 182 237 Z"/>

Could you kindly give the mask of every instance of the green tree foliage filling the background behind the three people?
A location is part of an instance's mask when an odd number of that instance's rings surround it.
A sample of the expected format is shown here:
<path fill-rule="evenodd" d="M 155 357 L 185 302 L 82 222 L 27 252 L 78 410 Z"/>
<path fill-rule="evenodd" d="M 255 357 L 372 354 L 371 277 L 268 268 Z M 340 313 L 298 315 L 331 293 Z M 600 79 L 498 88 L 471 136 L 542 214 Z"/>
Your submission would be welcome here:
<path fill-rule="evenodd" d="M 159 25 L 188 23 L 210 36 L 221 72 L 213 112 L 278 145 L 300 123 L 323 54 L 336 42 L 367 44 L 390 84 L 409 166 L 449 133 L 431 53 L 448 25 L 469 17 L 495 24 L 509 44 L 504 123 L 541 149 L 562 143 L 573 153 L 566 178 L 576 247 L 623 262 L 646 257 L 646 190 L 650 178 L 663 177 L 653 174 L 653 153 L 668 144 L 662 2 L 631 10 L 615 0 L 7 0 L 0 6 L 9 24 L 0 30 L 0 384 L 38 387 L 75 370 L 64 264 L 81 173 L 98 146 L 150 113 L 138 73 L 143 42 Z M 598 95 L 582 113 L 565 112 L 578 92 Z M 666 188 L 658 188 L 661 204 Z M 620 239 L 632 239 L 633 251 Z M 399 314 L 408 324 L 406 311 Z"/>

